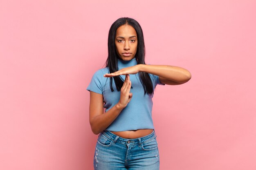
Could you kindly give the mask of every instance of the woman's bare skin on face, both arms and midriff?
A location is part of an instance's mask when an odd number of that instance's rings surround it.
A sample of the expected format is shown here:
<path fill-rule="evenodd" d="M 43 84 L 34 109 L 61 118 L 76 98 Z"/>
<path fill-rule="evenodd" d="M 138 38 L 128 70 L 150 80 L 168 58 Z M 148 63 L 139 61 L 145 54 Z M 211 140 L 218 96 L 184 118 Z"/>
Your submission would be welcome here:
<path fill-rule="evenodd" d="M 128 25 L 122 25 L 117 29 L 115 39 L 116 50 L 122 60 L 132 60 L 137 51 L 137 33 L 135 29 Z M 129 53 L 124 55 L 124 53 Z M 114 77 L 117 75 L 126 75 L 124 84 L 120 91 L 120 100 L 108 110 L 108 114 L 103 114 L 103 95 L 90 91 L 90 125 L 94 134 L 99 134 L 105 130 L 114 121 L 121 110 L 123 110 L 132 99 L 130 88 L 132 82 L 129 74 L 136 74 L 140 71 L 159 76 L 163 84 L 178 85 L 191 79 L 191 73 L 185 68 L 169 65 L 146 65 L 137 64 L 135 66 L 123 68 L 115 73 L 105 74 L 104 77 Z M 143 137 L 153 132 L 153 129 L 128 130 L 121 132 L 112 132 L 120 137 L 133 139 Z"/>

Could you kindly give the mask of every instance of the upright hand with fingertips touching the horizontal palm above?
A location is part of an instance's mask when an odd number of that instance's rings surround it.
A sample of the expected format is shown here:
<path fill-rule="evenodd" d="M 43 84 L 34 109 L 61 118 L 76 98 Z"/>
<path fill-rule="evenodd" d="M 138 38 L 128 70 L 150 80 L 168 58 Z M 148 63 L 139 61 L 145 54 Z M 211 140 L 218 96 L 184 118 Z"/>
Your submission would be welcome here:
<path fill-rule="evenodd" d="M 130 75 L 127 74 L 124 80 L 124 84 L 120 91 L 120 100 L 118 102 L 118 105 L 121 108 L 125 108 L 132 99 L 132 93 L 130 93 L 131 86 L 132 82 L 130 81 Z"/>

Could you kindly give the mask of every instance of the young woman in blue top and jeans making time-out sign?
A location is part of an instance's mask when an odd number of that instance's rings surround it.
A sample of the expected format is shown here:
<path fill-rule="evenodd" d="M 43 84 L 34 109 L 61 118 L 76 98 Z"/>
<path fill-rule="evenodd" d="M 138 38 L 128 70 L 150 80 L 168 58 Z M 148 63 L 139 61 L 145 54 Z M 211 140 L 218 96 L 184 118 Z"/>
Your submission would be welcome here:
<path fill-rule="evenodd" d="M 159 170 L 153 92 L 157 84 L 186 83 L 191 74 L 177 66 L 147 65 L 144 58 L 139 23 L 132 18 L 116 20 L 108 35 L 106 68 L 94 73 L 87 88 L 90 125 L 99 134 L 94 170 Z"/>

